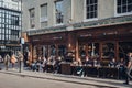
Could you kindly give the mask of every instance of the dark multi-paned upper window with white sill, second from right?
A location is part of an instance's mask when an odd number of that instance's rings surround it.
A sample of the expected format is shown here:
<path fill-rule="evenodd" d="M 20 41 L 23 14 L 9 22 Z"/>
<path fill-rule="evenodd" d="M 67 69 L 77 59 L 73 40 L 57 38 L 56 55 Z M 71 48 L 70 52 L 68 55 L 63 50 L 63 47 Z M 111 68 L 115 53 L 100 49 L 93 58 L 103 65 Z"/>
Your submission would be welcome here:
<path fill-rule="evenodd" d="M 98 0 L 86 0 L 85 2 L 85 19 L 95 19 L 98 13 Z"/>

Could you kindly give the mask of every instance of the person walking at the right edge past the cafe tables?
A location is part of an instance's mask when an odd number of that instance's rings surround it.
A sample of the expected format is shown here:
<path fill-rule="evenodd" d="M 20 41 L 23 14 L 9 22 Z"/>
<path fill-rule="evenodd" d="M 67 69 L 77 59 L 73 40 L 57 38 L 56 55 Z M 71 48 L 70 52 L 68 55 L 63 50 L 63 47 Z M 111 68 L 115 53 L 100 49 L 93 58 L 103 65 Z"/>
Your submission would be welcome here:
<path fill-rule="evenodd" d="M 125 85 L 129 85 L 130 81 L 130 73 L 132 70 L 132 53 L 128 53 L 128 56 L 125 58 Z"/>

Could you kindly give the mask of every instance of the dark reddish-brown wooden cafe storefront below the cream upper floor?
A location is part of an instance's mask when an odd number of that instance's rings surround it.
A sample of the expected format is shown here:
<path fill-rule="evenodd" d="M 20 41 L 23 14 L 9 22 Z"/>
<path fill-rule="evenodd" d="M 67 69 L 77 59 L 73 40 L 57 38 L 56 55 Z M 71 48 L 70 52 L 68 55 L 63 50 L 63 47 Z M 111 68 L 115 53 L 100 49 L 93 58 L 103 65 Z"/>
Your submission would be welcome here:
<path fill-rule="evenodd" d="M 32 59 L 51 55 L 65 57 L 67 52 L 73 52 L 75 59 L 89 56 L 119 61 L 132 51 L 131 37 L 132 23 L 128 23 L 32 35 L 29 43 Z"/>

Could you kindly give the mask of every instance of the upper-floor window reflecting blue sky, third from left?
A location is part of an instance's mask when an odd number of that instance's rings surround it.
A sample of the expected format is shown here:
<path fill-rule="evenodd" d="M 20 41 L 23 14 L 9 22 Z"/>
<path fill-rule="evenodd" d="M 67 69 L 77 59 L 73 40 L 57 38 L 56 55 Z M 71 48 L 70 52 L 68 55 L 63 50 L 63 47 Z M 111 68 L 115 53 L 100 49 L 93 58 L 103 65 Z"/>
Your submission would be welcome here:
<path fill-rule="evenodd" d="M 58 0 L 55 2 L 55 16 L 56 16 L 56 24 L 61 24 L 64 22 L 63 0 Z"/>

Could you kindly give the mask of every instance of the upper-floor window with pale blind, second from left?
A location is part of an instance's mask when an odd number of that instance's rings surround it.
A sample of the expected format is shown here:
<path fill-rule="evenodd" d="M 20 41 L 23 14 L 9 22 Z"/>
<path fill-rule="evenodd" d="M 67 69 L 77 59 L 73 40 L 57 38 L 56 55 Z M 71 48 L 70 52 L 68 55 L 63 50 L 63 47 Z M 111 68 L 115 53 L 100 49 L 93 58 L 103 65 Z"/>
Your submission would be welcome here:
<path fill-rule="evenodd" d="M 41 22 L 47 21 L 47 4 L 41 6 Z"/>

